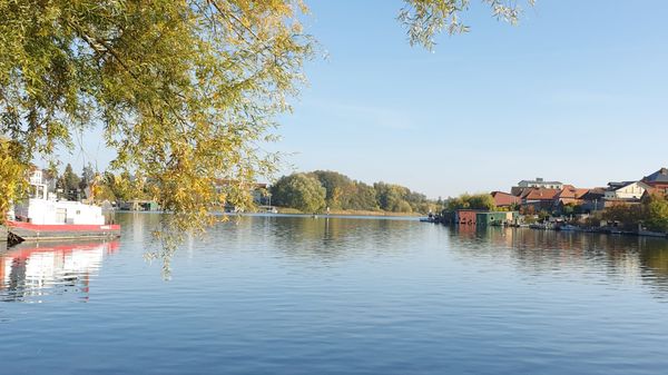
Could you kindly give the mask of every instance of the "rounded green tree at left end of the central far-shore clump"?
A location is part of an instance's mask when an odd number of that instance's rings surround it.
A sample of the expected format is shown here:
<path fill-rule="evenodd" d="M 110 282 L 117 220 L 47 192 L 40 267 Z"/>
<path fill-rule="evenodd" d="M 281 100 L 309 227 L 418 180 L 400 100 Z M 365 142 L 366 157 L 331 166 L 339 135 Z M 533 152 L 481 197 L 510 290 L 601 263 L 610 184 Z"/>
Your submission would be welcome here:
<path fill-rule="evenodd" d="M 277 206 L 317 213 L 325 207 L 326 190 L 312 175 L 294 174 L 272 186 L 272 197 Z"/>

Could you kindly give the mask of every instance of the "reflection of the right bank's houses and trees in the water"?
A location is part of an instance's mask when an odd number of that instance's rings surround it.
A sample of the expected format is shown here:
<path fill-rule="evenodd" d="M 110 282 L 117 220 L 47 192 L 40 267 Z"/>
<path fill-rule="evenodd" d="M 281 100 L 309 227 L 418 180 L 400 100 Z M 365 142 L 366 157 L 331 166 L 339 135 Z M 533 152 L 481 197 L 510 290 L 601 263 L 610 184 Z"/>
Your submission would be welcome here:
<path fill-rule="evenodd" d="M 525 277 L 641 282 L 668 298 L 668 240 L 513 228 L 449 228 L 451 248 L 468 257 L 510 260 Z M 503 259 L 502 259 L 503 258 Z"/>

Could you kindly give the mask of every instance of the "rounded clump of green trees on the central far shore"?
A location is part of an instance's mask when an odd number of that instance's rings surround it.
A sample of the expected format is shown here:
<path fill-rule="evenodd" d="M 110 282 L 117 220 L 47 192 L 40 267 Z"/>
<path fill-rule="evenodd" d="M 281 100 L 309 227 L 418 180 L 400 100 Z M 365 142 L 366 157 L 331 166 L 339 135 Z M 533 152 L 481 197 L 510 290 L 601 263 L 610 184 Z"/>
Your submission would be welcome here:
<path fill-rule="evenodd" d="M 305 213 L 369 210 L 421 213 L 436 210 L 436 203 L 411 189 L 386 182 L 367 185 L 331 170 L 281 177 L 271 188 L 272 203 Z"/>

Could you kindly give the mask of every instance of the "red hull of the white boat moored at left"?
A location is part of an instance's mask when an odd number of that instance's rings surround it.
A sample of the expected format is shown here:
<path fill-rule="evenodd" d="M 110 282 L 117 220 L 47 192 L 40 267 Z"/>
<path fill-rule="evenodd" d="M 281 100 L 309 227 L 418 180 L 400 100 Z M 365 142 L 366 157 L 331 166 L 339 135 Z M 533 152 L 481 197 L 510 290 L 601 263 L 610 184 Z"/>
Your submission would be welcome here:
<path fill-rule="evenodd" d="M 66 239 L 66 238 L 112 238 L 120 236 L 120 225 L 38 225 L 23 221 L 7 221 L 10 238 Z"/>

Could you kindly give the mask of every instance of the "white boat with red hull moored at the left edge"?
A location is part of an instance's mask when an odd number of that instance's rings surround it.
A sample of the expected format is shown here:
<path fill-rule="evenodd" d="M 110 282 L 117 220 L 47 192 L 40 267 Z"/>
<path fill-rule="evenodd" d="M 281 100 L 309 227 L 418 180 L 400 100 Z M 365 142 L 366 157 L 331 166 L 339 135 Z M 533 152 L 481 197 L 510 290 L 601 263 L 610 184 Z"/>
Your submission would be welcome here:
<path fill-rule="evenodd" d="M 107 224 L 100 207 L 56 199 L 41 172 L 31 176 L 30 187 L 30 197 L 16 204 L 6 221 L 10 243 L 120 236 L 120 226 Z"/>

